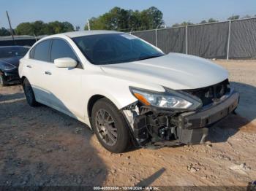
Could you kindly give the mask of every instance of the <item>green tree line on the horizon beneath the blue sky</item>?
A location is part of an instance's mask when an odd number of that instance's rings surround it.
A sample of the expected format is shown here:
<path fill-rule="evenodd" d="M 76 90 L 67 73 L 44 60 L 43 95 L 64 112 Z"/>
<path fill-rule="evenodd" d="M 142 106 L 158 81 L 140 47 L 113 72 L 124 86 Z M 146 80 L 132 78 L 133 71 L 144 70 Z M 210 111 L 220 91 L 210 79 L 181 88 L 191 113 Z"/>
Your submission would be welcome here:
<path fill-rule="evenodd" d="M 132 9 L 122 9 L 120 7 L 113 7 L 109 12 L 106 12 L 99 17 L 91 17 L 89 19 L 89 24 L 91 30 L 113 30 L 113 31 L 143 31 L 155 28 L 164 28 L 165 22 L 162 19 L 162 12 L 157 9 L 157 7 L 149 7 L 142 11 L 132 10 Z M 236 20 L 239 18 L 249 18 L 250 15 L 240 17 L 239 15 L 232 15 L 228 17 L 227 20 Z M 256 17 L 256 15 L 254 16 Z M 210 18 L 208 20 L 202 20 L 200 23 L 215 23 L 218 20 Z M 173 27 L 176 26 L 190 26 L 198 23 L 192 23 L 190 21 L 184 21 L 182 23 L 175 23 Z M 13 33 L 15 35 L 50 35 L 59 34 L 68 31 L 79 31 L 80 27 L 72 26 L 69 22 L 59 22 L 53 21 L 49 23 L 44 23 L 41 20 L 35 22 L 20 23 Z M 88 23 L 84 26 L 85 30 L 89 29 Z M 10 30 L 7 28 L 0 28 L 0 36 L 10 36 Z"/>

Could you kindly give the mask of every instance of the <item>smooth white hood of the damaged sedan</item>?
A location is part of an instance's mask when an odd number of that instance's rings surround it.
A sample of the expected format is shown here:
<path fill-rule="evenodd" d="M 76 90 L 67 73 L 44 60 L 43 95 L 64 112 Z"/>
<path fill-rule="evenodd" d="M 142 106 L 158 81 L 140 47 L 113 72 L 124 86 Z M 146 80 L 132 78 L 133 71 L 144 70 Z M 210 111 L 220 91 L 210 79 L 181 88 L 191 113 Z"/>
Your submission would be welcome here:
<path fill-rule="evenodd" d="M 227 70 L 204 58 L 169 53 L 157 58 L 101 66 L 107 74 L 173 90 L 196 89 L 227 79 Z"/>

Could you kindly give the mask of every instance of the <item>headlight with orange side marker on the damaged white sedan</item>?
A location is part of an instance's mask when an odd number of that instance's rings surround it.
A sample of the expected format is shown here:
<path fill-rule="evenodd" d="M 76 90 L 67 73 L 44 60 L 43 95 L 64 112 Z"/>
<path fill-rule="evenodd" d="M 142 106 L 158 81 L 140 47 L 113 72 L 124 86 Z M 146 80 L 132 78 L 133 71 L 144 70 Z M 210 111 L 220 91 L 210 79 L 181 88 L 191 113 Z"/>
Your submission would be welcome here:
<path fill-rule="evenodd" d="M 189 95 L 184 95 L 174 90 L 166 90 L 163 93 L 142 90 L 135 87 L 130 87 L 130 90 L 146 106 L 157 106 L 165 109 L 196 109 L 201 106 L 199 100 L 195 100 L 189 97 Z"/>

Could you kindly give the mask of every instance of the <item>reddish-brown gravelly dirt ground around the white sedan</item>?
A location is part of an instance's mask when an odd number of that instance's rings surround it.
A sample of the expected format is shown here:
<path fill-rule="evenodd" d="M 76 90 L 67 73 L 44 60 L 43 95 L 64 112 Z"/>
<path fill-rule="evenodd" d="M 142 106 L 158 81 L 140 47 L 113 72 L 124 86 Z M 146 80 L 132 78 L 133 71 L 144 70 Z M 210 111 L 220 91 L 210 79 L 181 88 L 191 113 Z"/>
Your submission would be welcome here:
<path fill-rule="evenodd" d="M 256 61 L 215 62 L 241 102 L 203 145 L 111 154 L 83 123 L 0 87 L 0 185 L 246 186 L 256 180 Z"/>

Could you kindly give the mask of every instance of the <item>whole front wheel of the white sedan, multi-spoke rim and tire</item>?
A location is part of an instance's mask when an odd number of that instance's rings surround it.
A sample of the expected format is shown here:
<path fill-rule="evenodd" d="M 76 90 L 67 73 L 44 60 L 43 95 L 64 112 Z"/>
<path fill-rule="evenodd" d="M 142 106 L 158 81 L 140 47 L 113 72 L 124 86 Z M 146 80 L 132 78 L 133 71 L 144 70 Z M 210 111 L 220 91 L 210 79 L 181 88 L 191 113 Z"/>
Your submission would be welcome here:
<path fill-rule="evenodd" d="M 110 152 L 124 152 L 129 147 L 127 122 L 107 98 L 102 98 L 94 104 L 91 125 L 99 142 Z"/>

